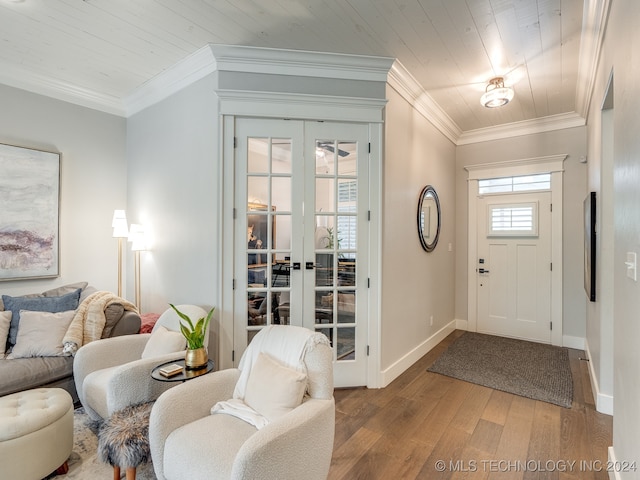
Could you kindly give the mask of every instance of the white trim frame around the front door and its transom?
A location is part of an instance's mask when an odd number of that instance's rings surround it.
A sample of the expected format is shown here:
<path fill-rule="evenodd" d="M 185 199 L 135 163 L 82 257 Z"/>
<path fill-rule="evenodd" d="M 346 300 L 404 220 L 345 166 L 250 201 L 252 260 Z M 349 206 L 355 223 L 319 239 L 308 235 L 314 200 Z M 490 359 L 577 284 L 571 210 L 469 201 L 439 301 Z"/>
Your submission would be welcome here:
<path fill-rule="evenodd" d="M 567 155 L 528 158 L 506 162 L 483 163 L 465 166 L 468 172 L 468 255 L 467 255 L 467 330 L 476 332 L 478 328 L 478 285 L 476 267 L 478 258 L 478 180 L 487 178 L 551 174 L 551 344 L 562 346 L 562 178 L 564 160 Z"/>

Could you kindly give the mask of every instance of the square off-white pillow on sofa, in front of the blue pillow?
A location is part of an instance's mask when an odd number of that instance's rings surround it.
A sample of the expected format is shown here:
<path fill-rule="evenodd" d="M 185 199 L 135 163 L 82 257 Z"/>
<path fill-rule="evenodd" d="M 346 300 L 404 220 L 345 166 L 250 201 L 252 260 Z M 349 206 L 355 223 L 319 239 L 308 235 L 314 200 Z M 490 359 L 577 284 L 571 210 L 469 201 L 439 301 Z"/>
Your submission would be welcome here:
<path fill-rule="evenodd" d="M 75 313 L 21 310 L 16 344 L 7 358 L 63 356 L 62 339 Z"/>

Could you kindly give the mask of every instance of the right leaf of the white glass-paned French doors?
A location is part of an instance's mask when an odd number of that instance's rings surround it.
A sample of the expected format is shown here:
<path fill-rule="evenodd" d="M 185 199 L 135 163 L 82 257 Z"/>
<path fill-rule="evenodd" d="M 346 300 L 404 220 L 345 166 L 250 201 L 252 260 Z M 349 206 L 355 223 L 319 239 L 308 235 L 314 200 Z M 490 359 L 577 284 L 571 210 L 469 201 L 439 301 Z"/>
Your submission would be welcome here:
<path fill-rule="evenodd" d="M 333 346 L 336 385 L 364 385 L 369 201 L 360 186 L 368 185 L 368 128 L 308 122 L 305 149 L 315 158 L 305 171 L 305 205 L 313 206 L 305 210 L 305 258 L 313 252 L 315 265 L 305 276 L 305 319 Z"/>

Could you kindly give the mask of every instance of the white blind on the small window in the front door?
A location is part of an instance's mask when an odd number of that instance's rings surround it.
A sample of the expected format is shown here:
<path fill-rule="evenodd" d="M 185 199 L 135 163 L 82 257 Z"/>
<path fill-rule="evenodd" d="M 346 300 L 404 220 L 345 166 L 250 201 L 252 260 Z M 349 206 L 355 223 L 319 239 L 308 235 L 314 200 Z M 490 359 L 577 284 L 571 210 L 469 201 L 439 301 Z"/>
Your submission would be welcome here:
<path fill-rule="evenodd" d="M 538 204 L 492 204 L 488 205 L 489 236 L 537 236 Z"/>

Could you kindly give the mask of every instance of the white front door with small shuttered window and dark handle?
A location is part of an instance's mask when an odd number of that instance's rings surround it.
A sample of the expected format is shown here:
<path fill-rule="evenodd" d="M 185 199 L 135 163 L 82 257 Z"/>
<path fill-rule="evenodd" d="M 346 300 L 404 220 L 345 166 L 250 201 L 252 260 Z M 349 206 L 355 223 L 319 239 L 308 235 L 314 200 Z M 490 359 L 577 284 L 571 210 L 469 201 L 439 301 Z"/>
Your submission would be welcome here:
<path fill-rule="evenodd" d="M 551 343 L 551 192 L 478 197 L 477 331 Z"/>

